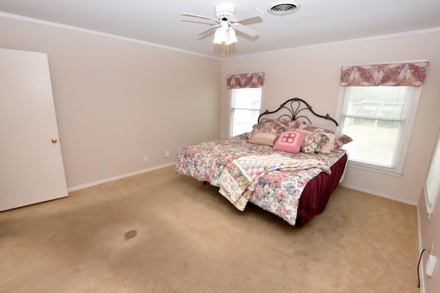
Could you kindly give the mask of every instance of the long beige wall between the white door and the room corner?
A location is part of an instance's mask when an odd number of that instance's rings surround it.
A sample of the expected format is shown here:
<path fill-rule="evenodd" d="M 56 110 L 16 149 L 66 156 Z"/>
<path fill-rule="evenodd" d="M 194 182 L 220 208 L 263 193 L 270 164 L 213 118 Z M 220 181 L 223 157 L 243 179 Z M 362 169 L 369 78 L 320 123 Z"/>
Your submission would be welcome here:
<path fill-rule="evenodd" d="M 48 55 L 71 190 L 219 137 L 221 60 L 5 17 L 0 47 Z"/>

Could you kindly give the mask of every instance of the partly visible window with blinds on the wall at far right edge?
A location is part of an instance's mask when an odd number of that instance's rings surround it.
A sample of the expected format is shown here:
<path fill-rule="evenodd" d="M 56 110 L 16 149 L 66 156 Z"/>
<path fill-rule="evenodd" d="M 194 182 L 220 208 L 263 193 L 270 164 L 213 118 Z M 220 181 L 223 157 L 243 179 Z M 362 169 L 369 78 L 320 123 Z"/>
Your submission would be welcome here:
<path fill-rule="evenodd" d="M 440 185 L 440 132 L 437 135 L 437 143 L 435 144 L 434 153 L 432 154 L 431 163 L 426 175 L 425 184 L 423 185 L 423 191 L 426 198 L 426 209 L 429 214 L 429 218 L 434 210 L 435 200 L 439 195 Z"/>

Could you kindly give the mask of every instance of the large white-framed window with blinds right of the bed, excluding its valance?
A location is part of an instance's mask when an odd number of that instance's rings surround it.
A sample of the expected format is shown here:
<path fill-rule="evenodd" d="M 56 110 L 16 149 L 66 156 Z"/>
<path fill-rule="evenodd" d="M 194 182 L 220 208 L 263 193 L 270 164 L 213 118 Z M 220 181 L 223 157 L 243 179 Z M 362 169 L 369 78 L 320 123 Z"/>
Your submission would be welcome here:
<path fill-rule="evenodd" d="M 420 87 L 346 86 L 342 88 L 340 132 L 350 161 L 401 174 L 417 110 Z"/>

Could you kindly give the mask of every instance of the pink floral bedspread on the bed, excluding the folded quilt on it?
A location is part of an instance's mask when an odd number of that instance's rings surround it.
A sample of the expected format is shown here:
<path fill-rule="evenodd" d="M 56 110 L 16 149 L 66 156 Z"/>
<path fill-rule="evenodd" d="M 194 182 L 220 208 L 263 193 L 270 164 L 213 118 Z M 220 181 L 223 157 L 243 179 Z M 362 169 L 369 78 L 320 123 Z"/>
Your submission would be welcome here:
<path fill-rule="evenodd" d="M 221 187 L 220 180 L 223 171 L 231 167 L 234 160 L 245 156 L 278 154 L 278 156 L 297 161 L 314 160 L 317 166 L 307 169 L 269 168 L 267 172 L 261 172 L 258 180 L 252 181 L 252 187 L 245 194 L 245 198 L 248 198 L 250 202 L 278 215 L 289 224 L 295 225 L 298 204 L 305 185 L 325 171 L 325 168 L 322 168 L 323 165 L 330 167 L 344 156 L 344 150 L 333 150 L 329 154 L 292 154 L 275 151 L 268 145 L 248 143 L 247 138 L 247 134 L 241 134 L 229 139 L 219 139 L 182 148 L 177 154 L 175 171 L 178 174 L 191 176 Z"/>

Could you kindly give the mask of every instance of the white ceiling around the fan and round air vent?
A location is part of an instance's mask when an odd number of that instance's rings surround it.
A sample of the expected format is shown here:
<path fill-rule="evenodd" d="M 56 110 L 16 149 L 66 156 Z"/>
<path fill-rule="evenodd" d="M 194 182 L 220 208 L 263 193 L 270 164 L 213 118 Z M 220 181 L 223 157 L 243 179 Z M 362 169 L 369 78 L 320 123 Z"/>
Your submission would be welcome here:
<path fill-rule="evenodd" d="M 440 0 L 296 0 L 300 9 L 293 14 L 269 14 L 267 7 L 278 2 L 289 1 L 225 1 L 235 5 L 236 14 L 250 8 L 263 10 L 263 21 L 248 24 L 260 36 L 250 38 L 237 32 L 239 41 L 230 45 L 229 56 L 440 30 Z M 197 36 L 210 22 L 181 16 L 188 12 L 214 17 L 218 3 L 223 1 L 1 0 L 0 12 L 4 13 L 0 15 L 25 16 L 223 58 L 223 46 L 212 43 L 213 33 Z"/>

